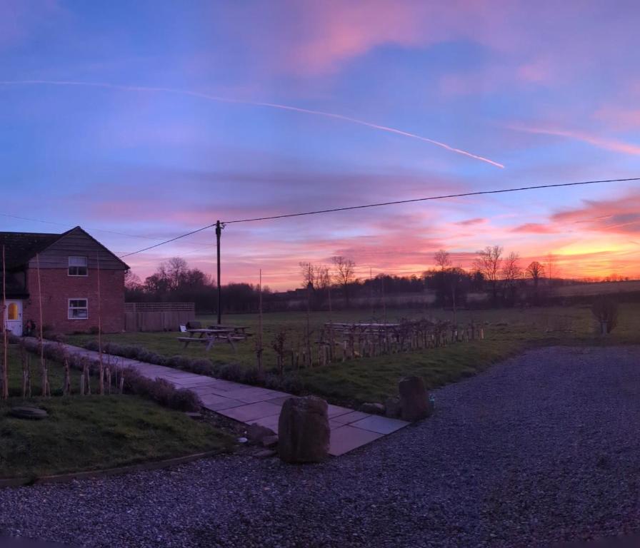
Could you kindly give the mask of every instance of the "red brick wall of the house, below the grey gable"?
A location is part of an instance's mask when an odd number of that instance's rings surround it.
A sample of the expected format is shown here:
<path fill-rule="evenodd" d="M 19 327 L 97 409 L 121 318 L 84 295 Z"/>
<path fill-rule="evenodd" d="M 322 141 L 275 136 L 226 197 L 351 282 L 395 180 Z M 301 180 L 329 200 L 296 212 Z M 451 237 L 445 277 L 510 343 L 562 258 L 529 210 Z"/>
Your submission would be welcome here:
<path fill-rule="evenodd" d="M 69 276 L 67 270 L 41 268 L 42 323 L 58 333 L 89 331 L 98 327 L 98 278 L 96 270 L 88 276 Z M 39 325 L 38 277 L 36 270 L 27 271 L 29 299 L 24 301 L 22 318 Z M 102 329 L 105 333 L 124 330 L 124 270 L 100 271 Z M 86 298 L 89 318 L 69 320 L 69 299 Z"/>

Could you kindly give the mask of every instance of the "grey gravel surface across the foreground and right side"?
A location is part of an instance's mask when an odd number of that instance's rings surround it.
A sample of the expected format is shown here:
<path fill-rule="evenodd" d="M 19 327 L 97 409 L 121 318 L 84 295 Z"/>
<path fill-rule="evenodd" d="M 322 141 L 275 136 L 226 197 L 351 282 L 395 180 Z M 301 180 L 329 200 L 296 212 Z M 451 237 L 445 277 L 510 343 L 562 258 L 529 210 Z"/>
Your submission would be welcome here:
<path fill-rule="evenodd" d="M 553 347 L 304 467 L 230 455 L 0 490 L 0 535 L 86 547 L 545 547 L 640 529 L 640 347 Z"/>

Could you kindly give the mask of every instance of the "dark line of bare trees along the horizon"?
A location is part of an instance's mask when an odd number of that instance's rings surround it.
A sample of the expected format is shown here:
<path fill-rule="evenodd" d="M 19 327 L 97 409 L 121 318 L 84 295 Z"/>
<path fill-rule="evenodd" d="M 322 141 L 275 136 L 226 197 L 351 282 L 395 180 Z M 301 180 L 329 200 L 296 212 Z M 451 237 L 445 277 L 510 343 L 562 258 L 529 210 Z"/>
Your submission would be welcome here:
<path fill-rule="evenodd" d="M 379 274 L 375 278 L 358 278 L 356 262 L 344 255 L 331 258 L 329 264 L 299 263 L 301 285 L 298 290 L 273 292 L 262 288 L 265 312 L 309 308 L 351 308 L 366 306 L 386 295 L 420 294 L 428 291 L 435 296 L 434 305 L 457 308 L 475 305 L 513 306 L 544 303 L 551 285 L 559 283 L 559 269 L 554 255 L 544 263 L 537 260 L 528 265 L 518 253 L 505 253 L 500 245 L 490 245 L 476 253 L 471 268 L 453 264 L 451 253 L 434 253 L 435 268 L 421 275 L 396 276 Z M 609 280 L 622 280 L 612 275 Z M 141 280 L 126 273 L 127 302 L 189 302 L 196 303 L 199 313 L 218 309 L 216 280 L 198 268 L 189 268 L 179 257 L 160 263 L 156 272 Z M 251 283 L 229 283 L 221 288 L 221 305 L 226 313 L 249 313 L 258 310 L 260 288 Z M 473 302 L 471 302 L 473 301 Z M 363 304 L 364 303 L 364 304 Z"/>

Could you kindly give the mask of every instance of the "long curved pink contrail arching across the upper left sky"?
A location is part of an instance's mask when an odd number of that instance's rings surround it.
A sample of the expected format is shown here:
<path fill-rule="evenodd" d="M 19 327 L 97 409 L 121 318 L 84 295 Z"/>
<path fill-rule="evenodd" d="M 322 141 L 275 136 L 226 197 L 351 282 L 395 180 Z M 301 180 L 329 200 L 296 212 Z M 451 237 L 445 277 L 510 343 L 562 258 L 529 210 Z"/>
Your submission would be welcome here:
<path fill-rule="evenodd" d="M 358 118 L 351 118 L 350 116 L 343 116 L 342 114 L 336 114 L 332 112 L 324 112 L 324 111 L 314 111 L 309 108 L 300 108 L 297 106 L 289 106 L 289 105 L 281 105 L 279 103 L 265 103 L 263 101 L 245 101 L 243 99 L 233 99 L 229 97 L 221 97 L 216 95 L 209 95 L 209 93 L 200 93 L 199 91 L 189 91 L 186 89 L 174 89 L 174 88 L 156 88 L 149 86 L 121 86 L 116 83 L 103 83 L 103 82 L 76 82 L 76 81 L 68 81 L 68 80 L 9 80 L 9 81 L 0 81 L 0 85 L 4 86 L 31 86 L 31 85 L 48 85 L 48 86 L 83 86 L 90 88 L 107 88 L 107 89 L 118 89 L 121 91 L 143 91 L 143 92 L 154 92 L 154 93 L 174 93 L 177 95 L 185 95 L 191 97 L 197 97 L 201 99 L 207 99 L 208 101 L 217 101 L 219 103 L 238 103 L 244 105 L 254 105 L 254 106 L 266 106 L 269 108 L 279 108 L 283 111 L 293 111 L 300 112 L 304 114 L 311 114 L 313 116 L 324 116 L 325 118 L 334 118 L 336 120 L 343 120 L 346 122 L 357 123 L 360 126 L 366 126 L 368 128 L 378 129 L 380 131 L 387 131 L 389 133 L 396 133 L 397 135 L 402 135 L 405 137 L 410 137 L 412 139 L 417 139 L 419 141 L 424 141 L 425 143 L 431 143 L 432 145 L 440 146 L 441 148 L 445 148 L 447 151 L 455 152 L 457 154 L 462 154 L 463 156 L 469 156 L 469 158 L 474 158 L 481 162 L 490 163 L 491 166 L 496 166 L 498 168 L 504 168 L 504 165 L 498 162 L 494 162 L 489 158 L 485 158 L 484 156 L 478 156 L 477 154 L 472 154 L 467 151 L 461 150 L 461 148 L 455 148 L 453 146 L 449 146 L 446 143 L 441 143 L 440 141 L 434 141 L 434 139 L 429 139 L 427 137 L 423 137 L 420 135 L 416 135 L 416 133 L 409 133 L 408 131 L 401 131 L 396 128 L 390 128 L 389 126 L 380 126 L 377 123 L 366 122 L 364 120 L 359 120 Z"/>

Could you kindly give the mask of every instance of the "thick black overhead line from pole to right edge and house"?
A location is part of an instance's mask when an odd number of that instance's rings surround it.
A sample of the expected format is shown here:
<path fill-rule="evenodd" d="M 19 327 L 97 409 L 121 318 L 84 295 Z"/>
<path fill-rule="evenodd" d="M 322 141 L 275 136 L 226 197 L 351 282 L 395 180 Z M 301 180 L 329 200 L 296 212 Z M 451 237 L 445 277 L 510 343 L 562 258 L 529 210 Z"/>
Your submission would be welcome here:
<path fill-rule="evenodd" d="M 579 181 L 578 183 L 554 183 L 549 185 L 534 185 L 534 186 L 520 186 L 516 188 L 500 188 L 497 190 L 491 191 L 476 191 L 476 192 L 463 192 L 456 194 L 443 194 L 441 196 L 427 196 L 426 198 L 410 198 L 408 200 L 396 200 L 390 202 L 379 202 L 379 203 L 367 203 L 364 205 L 350 205 L 344 208 L 331 208 L 331 209 L 320 209 L 315 211 L 304 211 L 301 213 L 284 213 L 283 215 L 271 215 L 269 217 L 254 217 L 254 218 L 246 218 L 246 219 L 234 219 L 234 220 L 225 220 L 221 221 L 221 225 L 230 225 L 231 223 L 251 223 L 257 220 L 275 220 L 275 219 L 284 219 L 291 217 L 302 217 L 304 215 L 319 215 L 321 213 L 335 213 L 339 211 L 350 211 L 355 209 L 366 209 L 366 208 L 378 208 L 383 205 L 400 205 L 403 203 L 416 203 L 416 202 L 426 202 L 432 200 L 446 200 L 448 198 L 464 198 L 466 196 L 482 196 L 486 194 L 503 194 L 509 192 L 521 192 L 521 191 L 534 191 L 544 188 L 561 188 L 561 187 L 569 187 L 569 186 L 585 186 L 585 185 L 593 185 L 596 183 L 625 183 L 629 181 L 640 181 L 640 177 L 629 177 L 629 178 L 620 178 L 620 179 L 599 179 L 596 181 Z M 142 253 L 144 251 L 148 251 L 150 249 L 158 248 L 161 245 L 165 245 L 167 243 L 174 242 L 176 240 L 180 240 L 181 238 L 186 238 L 186 236 L 190 236 L 192 234 L 196 234 L 206 230 L 207 228 L 213 228 L 217 223 L 211 223 L 210 225 L 203 226 L 198 228 L 197 230 L 191 230 L 191 232 L 187 232 L 185 234 L 181 234 L 176 236 L 175 238 L 171 238 L 170 240 L 165 240 L 164 242 L 156 243 L 155 245 L 150 245 L 148 248 L 139 249 L 137 251 L 131 251 L 131 253 L 126 253 L 126 255 L 120 255 L 120 258 L 130 257 L 131 255 L 136 255 L 138 253 Z"/>

